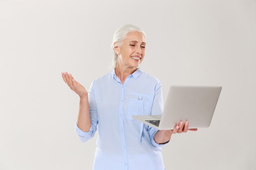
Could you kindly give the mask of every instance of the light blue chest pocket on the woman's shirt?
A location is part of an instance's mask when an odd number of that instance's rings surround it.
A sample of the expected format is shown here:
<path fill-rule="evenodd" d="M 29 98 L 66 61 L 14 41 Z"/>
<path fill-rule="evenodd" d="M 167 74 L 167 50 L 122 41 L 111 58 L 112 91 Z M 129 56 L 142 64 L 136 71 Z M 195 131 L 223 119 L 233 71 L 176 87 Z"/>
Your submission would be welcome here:
<path fill-rule="evenodd" d="M 131 95 L 133 97 L 129 99 L 127 119 L 135 120 L 131 117 L 132 115 L 148 115 L 149 96 L 133 92 L 131 92 Z"/>

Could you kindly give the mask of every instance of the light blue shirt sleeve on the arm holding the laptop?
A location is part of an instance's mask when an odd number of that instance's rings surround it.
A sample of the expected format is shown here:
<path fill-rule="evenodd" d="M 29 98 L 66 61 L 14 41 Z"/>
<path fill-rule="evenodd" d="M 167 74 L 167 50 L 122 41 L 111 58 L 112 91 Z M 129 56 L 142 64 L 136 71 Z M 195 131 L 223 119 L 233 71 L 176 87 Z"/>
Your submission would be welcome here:
<path fill-rule="evenodd" d="M 150 115 L 162 115 L 164 109 L 164 99 L 163 99 L 163 93 L 162 93 L 162 84 L 158 81 L 158 83 L 155 86 L 155 95 L 153 99 L 152 109 Z M 150 141 L 155 147 L 163 147 L 165 146 L 169 141 L 167 141 L 164 144 L 157 144 L 155 142 L 155 134 L 158 132 L 157 129 L 148 126 L 148 134 L 150 137 Z"/>

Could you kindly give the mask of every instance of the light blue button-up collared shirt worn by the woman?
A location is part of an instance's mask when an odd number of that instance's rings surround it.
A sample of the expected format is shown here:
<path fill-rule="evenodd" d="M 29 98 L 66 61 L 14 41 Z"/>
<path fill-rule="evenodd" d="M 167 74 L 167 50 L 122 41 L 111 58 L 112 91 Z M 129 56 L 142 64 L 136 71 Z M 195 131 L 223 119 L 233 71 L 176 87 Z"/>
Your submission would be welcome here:
<path fill-rule="evenodd" d="M 162 146 L 154 140 L 158 131 L 131 115 L 161 115 L 161 82 L 138 68 L 124 84 L 112 72 L 95 79 L 88 91 L 92 126 L 83 132 L 75 124 L 82 142 L 91 139 L 97 125 L 99 135 L 93 170 L 164 170 Z"/>

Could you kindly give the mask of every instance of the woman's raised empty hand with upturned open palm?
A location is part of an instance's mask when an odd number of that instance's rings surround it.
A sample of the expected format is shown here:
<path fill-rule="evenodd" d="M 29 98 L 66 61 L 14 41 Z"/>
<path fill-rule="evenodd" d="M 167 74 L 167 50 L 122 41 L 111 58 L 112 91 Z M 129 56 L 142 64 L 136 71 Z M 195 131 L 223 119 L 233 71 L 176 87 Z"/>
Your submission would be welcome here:
<path fill-rule="evenodd" d="M 79 95 L 79 97 L 86 97 L 88 95 L 88 92 L 85 90 L 85 88 L 79 84 L 79 82 L 76 82 L 76 80 L 72 77 L 71 74 L 68 74 L 67 72 L 61 73 L 62 78 L 65 83 L 70 87 L 70 89 L 76 94 Z"/>

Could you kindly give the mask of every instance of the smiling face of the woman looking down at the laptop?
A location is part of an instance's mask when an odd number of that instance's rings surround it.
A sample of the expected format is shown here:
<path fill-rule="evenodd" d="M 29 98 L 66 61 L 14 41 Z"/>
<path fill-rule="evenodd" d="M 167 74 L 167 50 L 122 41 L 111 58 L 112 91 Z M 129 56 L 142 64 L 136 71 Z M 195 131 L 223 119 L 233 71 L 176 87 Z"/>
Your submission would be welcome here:
<path fill-rule="evenodd" d="M 145 37 L 142 33 L 134 31 L 126 35 L 115 51 L 118 54 L 118 64 L 121 67 L 138 67 L 145 55 Z"/>

